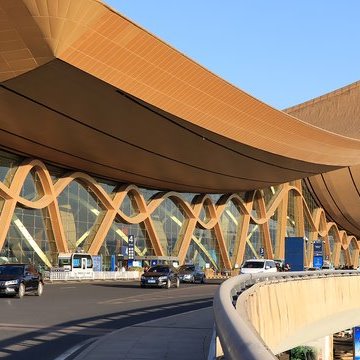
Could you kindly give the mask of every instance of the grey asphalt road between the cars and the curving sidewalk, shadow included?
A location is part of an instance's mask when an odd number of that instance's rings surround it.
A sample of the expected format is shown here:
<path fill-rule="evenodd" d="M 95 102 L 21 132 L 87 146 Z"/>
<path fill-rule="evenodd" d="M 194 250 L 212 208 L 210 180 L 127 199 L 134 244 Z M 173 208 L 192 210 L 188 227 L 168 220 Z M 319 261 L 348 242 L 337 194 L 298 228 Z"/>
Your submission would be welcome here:
<path fill-rule="evenodd" d="M 218 284 L 142 289 L 138 282 L 46 284 L 43 296 L 0 298 L 0 358 L 64 360 L 79 344 L 144 321 L 212 306 Z"/>

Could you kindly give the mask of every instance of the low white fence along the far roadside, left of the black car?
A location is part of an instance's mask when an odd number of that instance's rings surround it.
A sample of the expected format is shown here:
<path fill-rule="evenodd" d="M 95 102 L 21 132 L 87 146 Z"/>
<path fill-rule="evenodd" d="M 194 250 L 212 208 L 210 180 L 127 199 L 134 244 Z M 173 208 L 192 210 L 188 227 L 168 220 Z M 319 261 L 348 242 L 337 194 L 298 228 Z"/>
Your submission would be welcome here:
<path fill-rule="evenodd" d="M 48 271 L 44 279 L 49 281 L 68 280 L 139 280 L 139 271 Z"/>

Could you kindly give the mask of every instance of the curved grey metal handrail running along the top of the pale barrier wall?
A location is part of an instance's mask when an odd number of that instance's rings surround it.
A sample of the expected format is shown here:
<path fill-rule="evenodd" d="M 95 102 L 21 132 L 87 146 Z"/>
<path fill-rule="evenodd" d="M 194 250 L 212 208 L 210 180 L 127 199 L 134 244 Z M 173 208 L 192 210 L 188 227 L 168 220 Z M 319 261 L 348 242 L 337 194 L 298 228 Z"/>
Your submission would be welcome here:
<path fill-rule="evenodd" d="M 246 290 L 252 285 L 259 282 L 269 283 L 343 275 L 359 276 L 360 271 L 322 270 L 243 274 L 226 280 L 217 290 L 213 305 L 216 336 L 220 340 L 224 358 L 226 360 L 277 359 L 248 321 L 244 311 L 244 316 L 241 316 L 241 306 L 240 311 L 235 308 L 237 300 L 239 299 L 241 303 L 241 297 L 246 297 Z M 216 354 L 216 350 L 212 353 Z"/>

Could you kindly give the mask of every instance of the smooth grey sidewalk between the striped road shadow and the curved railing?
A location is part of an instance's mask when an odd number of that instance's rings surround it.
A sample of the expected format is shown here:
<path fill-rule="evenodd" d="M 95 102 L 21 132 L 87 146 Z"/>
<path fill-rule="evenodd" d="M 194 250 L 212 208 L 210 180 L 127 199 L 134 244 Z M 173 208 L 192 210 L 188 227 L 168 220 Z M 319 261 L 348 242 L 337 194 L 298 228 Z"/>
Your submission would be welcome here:
<path fill-rule="evenodd" d="M 74 360 L 206 360 L 213 326 L 212 307 L 152 320 L 103 336 Z"/>

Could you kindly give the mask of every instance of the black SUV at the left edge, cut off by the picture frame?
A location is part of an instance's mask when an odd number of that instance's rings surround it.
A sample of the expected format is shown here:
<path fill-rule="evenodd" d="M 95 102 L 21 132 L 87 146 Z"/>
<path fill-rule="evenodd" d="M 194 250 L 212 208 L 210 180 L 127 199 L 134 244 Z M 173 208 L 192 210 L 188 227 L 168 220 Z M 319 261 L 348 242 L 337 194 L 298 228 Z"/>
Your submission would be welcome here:
<path fill-rule="evenodd" d="M 26 292 L 33 292 L 40 296 L 43 290 L 42 276 L 33 265 L 0 265 L 0 294 L 22 298 Z"/>

